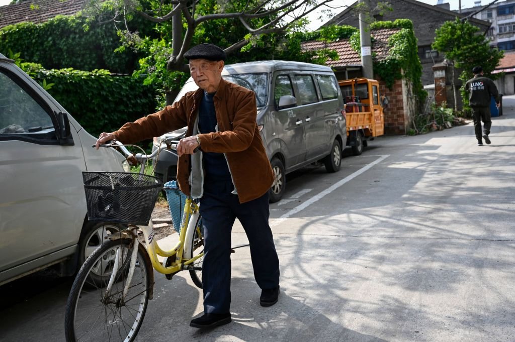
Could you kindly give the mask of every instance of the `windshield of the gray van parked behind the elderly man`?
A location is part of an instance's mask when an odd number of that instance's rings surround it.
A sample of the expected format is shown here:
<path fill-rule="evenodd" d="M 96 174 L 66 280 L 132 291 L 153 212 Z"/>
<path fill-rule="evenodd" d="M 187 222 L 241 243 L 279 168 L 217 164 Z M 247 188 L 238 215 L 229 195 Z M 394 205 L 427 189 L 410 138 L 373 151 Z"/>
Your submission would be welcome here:
<path fill-rule="evenodd" d="M 222 75 L 224 80 L 236 83 L 242 87 L 250 89 L 256 94 L 256 105 L 258 108 L 266 106 L 268 100 L 268 74 L 266 73 L 249 73 L 249 74 L 237 74 L 237 75 Z M 181 91 L 175 98 L 178 101 L 187 92 L 197 90 L 198 87 L 193 82 L 193 79 L 187 80 L 186 84 L 182 87 Z"/>

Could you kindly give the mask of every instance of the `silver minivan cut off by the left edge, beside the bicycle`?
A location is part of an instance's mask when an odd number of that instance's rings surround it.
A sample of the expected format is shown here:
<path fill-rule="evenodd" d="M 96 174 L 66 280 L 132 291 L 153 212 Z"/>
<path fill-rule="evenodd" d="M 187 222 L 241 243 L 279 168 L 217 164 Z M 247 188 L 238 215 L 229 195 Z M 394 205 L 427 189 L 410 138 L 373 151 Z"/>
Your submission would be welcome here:
<path fill-rule="evenodd" d="M 0 285 L 56 265 L 71 275 L 117 224 L 88 222 L 83 170 L 128 171 L 0 53 Z"/>

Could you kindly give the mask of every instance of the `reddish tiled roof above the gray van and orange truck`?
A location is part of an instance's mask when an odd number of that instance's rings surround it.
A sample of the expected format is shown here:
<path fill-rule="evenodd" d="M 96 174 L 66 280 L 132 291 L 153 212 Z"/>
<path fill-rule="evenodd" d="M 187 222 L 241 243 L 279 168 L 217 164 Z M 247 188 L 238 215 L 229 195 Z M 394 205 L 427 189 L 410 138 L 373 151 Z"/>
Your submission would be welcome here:
<path fill-rule="evenodd" d="M 375 52 L 375 61 L 381 61 L 388 55 L 388 38 L 390 35 L 399 32 L 400 29 L 394 28 L 381 28 L 375 29 L 370 32 L 373 37 L 372 41 L 372 52 Z M 348 40 L 341 40 L 338 42 L 325 43 L 320 41 L 311 41 L 302 43 L 302 49 L 306 51 L 319 50 L 319 49 L 331 49 L 336 50 L 339 59 L 336 61 L 328 60 L 325 65 L 330 67 L 341 67 L 351 65 L 361 65 L 361 57 L 357 51 L 355 51 Z"/>

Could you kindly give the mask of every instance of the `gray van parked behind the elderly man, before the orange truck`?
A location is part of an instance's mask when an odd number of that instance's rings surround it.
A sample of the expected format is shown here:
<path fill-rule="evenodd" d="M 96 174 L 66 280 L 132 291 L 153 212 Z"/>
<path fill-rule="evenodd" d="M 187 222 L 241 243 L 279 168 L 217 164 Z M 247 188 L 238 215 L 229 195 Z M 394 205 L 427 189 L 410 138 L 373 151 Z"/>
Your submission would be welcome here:
<path fill-rule="evenodd" d="M 285 175 L 291 171 L 317 161 L 322 161 L 328 172 L 340 169 L 347 128 L 344 100 L 330 67 L 289 61 L 247 62 L 226 65 L 222 77 L 256 94 L 257 121 L 276 176 L 270 202 L 281 199 Z M 176 100 L 197 88 L 190 77 Z M 154 145 L 183 132 L 155 138 Z M 155 174 L 174 179 L 177 155 L 165 151 L 156 162 Z"/>

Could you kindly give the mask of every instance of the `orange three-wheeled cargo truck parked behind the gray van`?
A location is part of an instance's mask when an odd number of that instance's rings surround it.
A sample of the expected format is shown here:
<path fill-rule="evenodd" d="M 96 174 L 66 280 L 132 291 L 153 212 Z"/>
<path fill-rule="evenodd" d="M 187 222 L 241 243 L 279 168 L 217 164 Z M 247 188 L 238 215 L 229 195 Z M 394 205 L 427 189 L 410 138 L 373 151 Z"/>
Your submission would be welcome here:
<path fill-rule="evenodd" d="M 347 116 L 347 146 L 360 155 L 367 140 L 384 134 L 383 101 L 379 82 L 367 78 L 338 81 Z"/>

